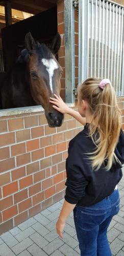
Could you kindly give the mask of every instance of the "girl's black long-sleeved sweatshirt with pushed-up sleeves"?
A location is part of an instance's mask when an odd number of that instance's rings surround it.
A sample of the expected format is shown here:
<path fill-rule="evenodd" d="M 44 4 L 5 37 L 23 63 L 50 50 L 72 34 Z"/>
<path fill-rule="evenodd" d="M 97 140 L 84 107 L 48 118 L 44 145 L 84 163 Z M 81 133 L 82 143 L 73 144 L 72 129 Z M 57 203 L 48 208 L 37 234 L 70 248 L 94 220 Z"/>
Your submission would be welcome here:
<path fill-rule="evenodd" d="M 110 170 L 105 163 L 98 170 L 92 170 L 91 160 L 86 153 L 94 152 L 95 144 L 88 135 L 86 123 L 84 130 L 69 142 L 68 158 L 66 159 L 65 200 L 71 204 L 91 206 L 110 196 L 122 178 L 122 170 L 118 162 L 112 164 Z M 124 163 L 124 135 L 120 131 L 115 154 Z"/>

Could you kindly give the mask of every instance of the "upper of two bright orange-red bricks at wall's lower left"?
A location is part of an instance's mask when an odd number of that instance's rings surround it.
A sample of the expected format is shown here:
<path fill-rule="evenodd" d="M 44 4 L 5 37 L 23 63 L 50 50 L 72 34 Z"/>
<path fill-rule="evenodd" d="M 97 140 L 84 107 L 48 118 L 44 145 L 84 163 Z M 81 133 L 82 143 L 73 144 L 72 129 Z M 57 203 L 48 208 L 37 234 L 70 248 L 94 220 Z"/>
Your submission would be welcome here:
<path fill-rule="evenodd" d="M 14 192 L 16 192 L 18 190 L 18 182 L 12 182 L 6 186 L 3 187 L 3 196 L 7 197 L 10 194 L 13 194 Z"/>

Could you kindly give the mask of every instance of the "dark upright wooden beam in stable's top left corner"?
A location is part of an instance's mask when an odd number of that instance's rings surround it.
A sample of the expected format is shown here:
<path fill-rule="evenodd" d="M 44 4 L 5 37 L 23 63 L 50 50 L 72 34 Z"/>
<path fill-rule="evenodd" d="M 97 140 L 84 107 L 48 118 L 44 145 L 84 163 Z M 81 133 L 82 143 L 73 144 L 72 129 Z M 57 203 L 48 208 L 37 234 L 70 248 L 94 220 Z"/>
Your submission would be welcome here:
<path fill-rule="evenodd" d="M 9 1 L 5 1 L 5 20 L 6 20 L 6 27 L 12 25 L 12 9 L 11 3 Z"/>

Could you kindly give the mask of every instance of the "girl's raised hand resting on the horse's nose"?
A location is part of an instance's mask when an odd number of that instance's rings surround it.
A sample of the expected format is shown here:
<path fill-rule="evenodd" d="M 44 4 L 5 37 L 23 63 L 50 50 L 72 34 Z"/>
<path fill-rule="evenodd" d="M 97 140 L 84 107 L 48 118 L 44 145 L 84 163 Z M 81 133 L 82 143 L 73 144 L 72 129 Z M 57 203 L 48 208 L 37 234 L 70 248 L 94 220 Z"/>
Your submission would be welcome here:
<path fill-rule="evenodd" d="M 57 96 L 56 94 L 54 94 L 55 98 L 51 98 L 51 100 L 49 100 L 49 102 L 51 102 L 53 105 L 53 108 L 55 110 L 58 110 L 59 112 L 61 112 L 62 114 L 68 113 L 68 109 L 69 107 L 64 103 L 64 101 L 62 100 L 62 98 L 60 96 Z"/>

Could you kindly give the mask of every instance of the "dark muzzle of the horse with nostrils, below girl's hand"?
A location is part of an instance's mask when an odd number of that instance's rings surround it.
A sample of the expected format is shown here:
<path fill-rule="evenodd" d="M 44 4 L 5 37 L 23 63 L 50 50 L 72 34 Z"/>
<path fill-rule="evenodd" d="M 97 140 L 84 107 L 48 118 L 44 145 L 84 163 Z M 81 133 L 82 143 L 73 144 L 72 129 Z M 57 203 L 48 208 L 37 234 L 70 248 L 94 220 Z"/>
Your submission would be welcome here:
<path fill-rule="evenodd" d="M 56 112 L 49 112 L 46 115 L 46 119 L 48 122 L 49 127 L 58 127 L 62 125 L 64 115 L 58 111 Z"/>

